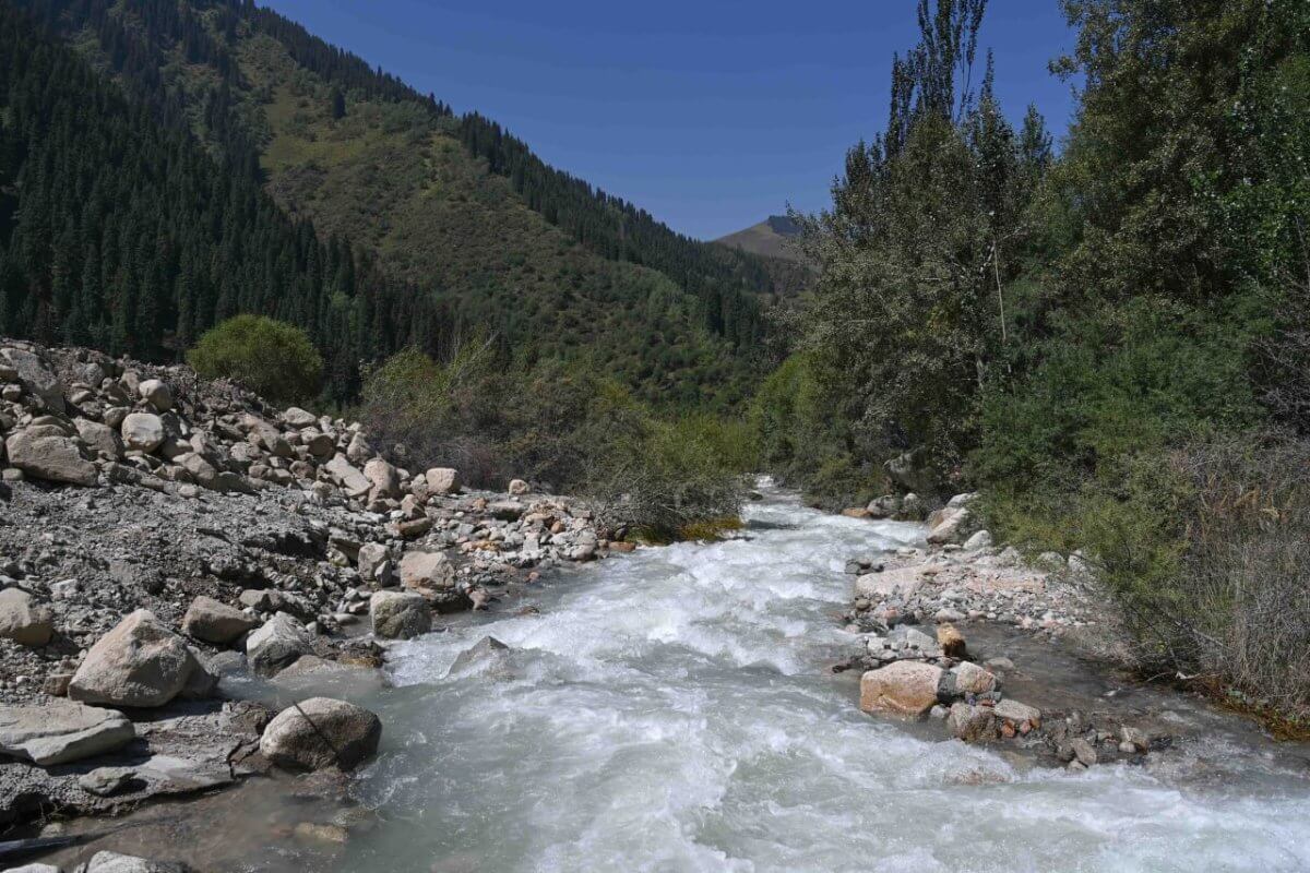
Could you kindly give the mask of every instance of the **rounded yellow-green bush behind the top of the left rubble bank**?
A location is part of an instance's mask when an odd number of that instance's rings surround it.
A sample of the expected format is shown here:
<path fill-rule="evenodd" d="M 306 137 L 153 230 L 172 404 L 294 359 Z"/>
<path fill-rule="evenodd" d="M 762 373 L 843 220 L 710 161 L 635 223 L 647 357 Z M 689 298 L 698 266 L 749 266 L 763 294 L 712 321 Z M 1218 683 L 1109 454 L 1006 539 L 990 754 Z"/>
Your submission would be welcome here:
<path fill-rule="evenodd" d="M 324 360 L 293 325 L 263 315 L 237 315 L 212 327 L 186 353 L 203 378 L 231 378 L 274 403 L 313 397 Z"/>

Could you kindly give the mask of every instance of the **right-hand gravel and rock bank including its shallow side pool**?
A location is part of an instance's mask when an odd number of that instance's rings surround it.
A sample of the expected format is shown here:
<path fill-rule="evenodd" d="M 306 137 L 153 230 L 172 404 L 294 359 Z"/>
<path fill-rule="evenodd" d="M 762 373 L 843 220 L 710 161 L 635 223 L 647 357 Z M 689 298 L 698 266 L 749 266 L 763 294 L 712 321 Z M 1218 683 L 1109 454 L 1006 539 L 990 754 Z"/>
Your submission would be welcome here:
<path fill-rule="evenodd" d="M 1216 734 L 1306 767 L 1301 743 L 1279 749 L 1260 722 L 1207 695 L 1145 681 L 1086 561 L 1055 552 L 1026 560 L 986 531 L 947 524 L 969 500 L 955 497 L 921 542 L 846 561 L 853 592 L 842 618 L 858 643 L 834 669 L 862 675 L 866 712 L 924 717 L 925 736 L 1072 771 L 1124 763 L 1186 772 Z"/>

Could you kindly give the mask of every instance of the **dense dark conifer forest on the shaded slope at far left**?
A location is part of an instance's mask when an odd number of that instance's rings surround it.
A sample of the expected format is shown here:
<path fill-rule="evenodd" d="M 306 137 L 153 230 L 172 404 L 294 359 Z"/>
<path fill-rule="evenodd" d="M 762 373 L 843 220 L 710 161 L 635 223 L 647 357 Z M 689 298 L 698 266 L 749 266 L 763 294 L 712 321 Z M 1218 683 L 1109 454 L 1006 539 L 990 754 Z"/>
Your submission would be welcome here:
<path fill-rule="evenodd" d="M 0 332 L 166 359 L 261 312 L 310 330 L 347 395 L 360 359 L 453 329 L 8 5 L 0 56 Z"/>

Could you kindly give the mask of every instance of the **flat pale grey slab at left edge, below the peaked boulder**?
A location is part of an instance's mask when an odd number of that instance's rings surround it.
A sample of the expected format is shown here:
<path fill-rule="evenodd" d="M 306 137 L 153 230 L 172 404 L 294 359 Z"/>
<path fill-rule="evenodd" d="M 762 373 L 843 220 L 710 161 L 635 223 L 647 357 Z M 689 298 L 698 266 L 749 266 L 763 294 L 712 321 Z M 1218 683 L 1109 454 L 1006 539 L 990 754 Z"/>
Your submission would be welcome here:
<path fill-rule="evenodd" d="M 67 764 L 119 749 L 136 737 L 114 709 L 71 700 L 46 705 L 0 705 L 0 753 L 42 767 Z"/>

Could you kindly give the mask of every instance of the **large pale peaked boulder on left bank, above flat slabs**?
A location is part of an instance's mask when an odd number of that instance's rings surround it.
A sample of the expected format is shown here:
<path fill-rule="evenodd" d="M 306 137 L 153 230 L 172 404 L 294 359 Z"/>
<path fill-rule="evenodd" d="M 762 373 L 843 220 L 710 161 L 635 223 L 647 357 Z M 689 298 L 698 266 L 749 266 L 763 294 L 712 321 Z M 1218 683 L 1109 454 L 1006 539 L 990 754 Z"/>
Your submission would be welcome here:
<path fill-rule="evenodd" d="M 162 707 L 185 688 L 212 685 L 181 636 L 149 610 L 136 610 L 90 647 L 68 696 L 111 707 Z"/>

